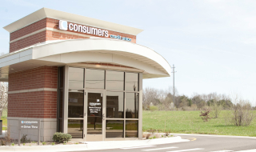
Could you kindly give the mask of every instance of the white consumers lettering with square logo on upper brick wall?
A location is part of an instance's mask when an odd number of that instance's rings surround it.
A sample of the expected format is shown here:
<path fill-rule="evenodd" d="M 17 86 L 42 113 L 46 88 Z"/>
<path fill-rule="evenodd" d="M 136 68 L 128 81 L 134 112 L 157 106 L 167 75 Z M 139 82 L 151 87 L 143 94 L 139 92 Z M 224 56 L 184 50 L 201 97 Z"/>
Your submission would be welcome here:
<path fill-rule="evenodd" d="M 74 23 L 68 23 L 66 21 L 59 20 L 58 22 L 58 29 L 59 30 L 74 30 L 76 32 L 84 33 L 84 34 L 94 34 L 102 37 L 108 37 L 109 31 L 102 30 L 95 27 L 90 26 L 83 26 Z"/>

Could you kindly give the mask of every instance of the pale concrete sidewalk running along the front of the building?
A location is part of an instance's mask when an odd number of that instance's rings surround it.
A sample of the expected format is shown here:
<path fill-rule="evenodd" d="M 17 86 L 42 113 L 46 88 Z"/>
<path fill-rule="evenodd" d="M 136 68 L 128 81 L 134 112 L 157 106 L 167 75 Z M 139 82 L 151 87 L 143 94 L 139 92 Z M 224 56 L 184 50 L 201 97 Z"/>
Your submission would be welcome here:
<path fill-rule="evenodd" d="M 75 151 L 75 150 L 104 150 L 117 149 L 130 146 L 149 146 L 175 142 L 189 142 L 189 140 L 180 137 L 156 138 L 147 140 L 129 140 L 129 141 L 103 141 L 103 142 L 82 142 L 78 145 L 60 145 L 60 146 L 0 146 L 0 151 Z"/>

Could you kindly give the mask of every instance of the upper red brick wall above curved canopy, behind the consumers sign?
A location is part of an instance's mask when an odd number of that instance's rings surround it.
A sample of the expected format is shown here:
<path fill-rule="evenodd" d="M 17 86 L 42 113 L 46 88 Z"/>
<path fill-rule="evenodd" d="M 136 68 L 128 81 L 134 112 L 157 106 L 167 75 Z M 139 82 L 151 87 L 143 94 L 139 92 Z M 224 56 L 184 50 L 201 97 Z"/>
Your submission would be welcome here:
<path fill-rule="evenodd" d="M 23 27 L 20 30 L 16 30 L 13 33 L 10 34 L 10 41 L 13 41 L 16 38 L 20 38 L 26 34 L 33 33 L 37 30 L 41 30 L 43 28 L 50 27 L 54 29 L 58 29 L 58 19 L 52 19 L 52 18 L 44 18 L 38 22 L 34 22 L 33 24 L 30 24 L 29 26 Z M 37 44 L 39 42 L 46 42 L 50 40 L 63 40 L 63 39 L 78 39 L 78 38 L 87 38 L 87 37 L 82 37 L 81 35 L 78 36 L 78 34 L 82 34 L 79 32 L 75 31 L 70 31 L 74 34 L 63 34 L 61 32 L 56 32 L 56 31 L 51 31 L 51 30 L 45 30 L 42 31 L 38 34 L 31 35 L 26 38 L 22 38 L 16 42 L 11 42 L 10 43 L 10 52 L 14 52 L 15 50 L 20 50 L 22 48 L 25 48 L 27 46 L 32 46 L 34 44 Z M 136 36 L 130 35 L 130 34 L 122 34 L 119 32 L 114 32 L 109 30 L 109 35 L 120 35 L 121 37 L 128 37 L 131 38 L 131 42 L 136 43 Z M 82 34 L 82 35 L 92 35 L 94 37 L 100 37 L 97 35 L 93 34 Z M 106 38 L 106 37 L 105 37 Z"/>

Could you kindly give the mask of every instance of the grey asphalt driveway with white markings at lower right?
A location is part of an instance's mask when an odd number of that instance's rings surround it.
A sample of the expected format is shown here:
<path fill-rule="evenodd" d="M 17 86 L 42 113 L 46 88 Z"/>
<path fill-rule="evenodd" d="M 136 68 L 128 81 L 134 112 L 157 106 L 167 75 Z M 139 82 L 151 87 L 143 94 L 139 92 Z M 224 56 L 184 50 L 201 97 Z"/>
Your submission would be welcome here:
<path fill-rule="evenodd" d="M 109 150 L 85 150 L 94 152 L 146 152 L 146 151 L 160 151 L 160 152 L 182 152 L 182 151 L 198 151 L 198 152 L 228 152 L 228 151 L 242 151 L 256 152 L 255 138 L 237 138 L 237 137 L 220 137 L 214 135 L 197 135 L 197 134 L 175 134 L 181 136 L 183 139 L 188 139 L 190 142 L 178 142 L 162 145 L 149 146 L 129 146 L 119 149 Z M 152 139 L 154 140 L 154 139 Z M 246 152 L 245 151 L 245 152 Z M 82 152 L 82 151 L 79 151 Z"/>

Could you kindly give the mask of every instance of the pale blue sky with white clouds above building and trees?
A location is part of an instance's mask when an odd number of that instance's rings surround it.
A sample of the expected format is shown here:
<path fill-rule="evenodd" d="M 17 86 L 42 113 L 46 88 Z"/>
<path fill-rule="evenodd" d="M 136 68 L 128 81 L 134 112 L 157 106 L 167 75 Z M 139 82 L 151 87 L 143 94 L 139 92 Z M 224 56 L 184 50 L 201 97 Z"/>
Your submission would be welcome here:
<path fill-rule="evenodd" d="M 0 26 L 42 7 L 98 18 L 144 31 L 137 42 L 176 66 L 178 94 L 231 94 L 256 103 L 256 1 L 1 0 Z M 9 33 L 0 29 L 0 53 Z M 172 77 L 143 81 L 167 89 Z"/>

